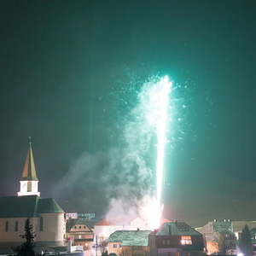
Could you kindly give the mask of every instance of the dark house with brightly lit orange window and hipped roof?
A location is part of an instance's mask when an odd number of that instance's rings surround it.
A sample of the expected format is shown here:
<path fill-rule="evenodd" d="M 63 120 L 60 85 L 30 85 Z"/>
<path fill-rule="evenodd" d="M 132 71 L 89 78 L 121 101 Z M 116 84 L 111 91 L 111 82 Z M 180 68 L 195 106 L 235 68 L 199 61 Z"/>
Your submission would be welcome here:
<path fill-rule="evenodd" d="M 159 230 L 149 235 L 151 256 L 193 256 L 204 251 L 201 233 L 183 222 L 162 224 Z"/>

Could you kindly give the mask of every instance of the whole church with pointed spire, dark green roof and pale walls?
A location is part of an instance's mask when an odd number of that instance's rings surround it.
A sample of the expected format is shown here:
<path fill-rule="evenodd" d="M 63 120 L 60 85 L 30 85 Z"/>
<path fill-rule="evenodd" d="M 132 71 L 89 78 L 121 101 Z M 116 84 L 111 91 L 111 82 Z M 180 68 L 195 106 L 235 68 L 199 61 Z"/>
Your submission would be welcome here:
<path fill-rule="evenodd" d="M 38 249 L 63 246 L 66 233 L 64 213 L 53 198 L 40 197 L 30 142 L 20 177 L 20 191 L 16 196 L 0 197 L 0 252 L 10 252 L 24 241 L 20 235 L 24 234 L 27 218 L 30 218 Z"/>

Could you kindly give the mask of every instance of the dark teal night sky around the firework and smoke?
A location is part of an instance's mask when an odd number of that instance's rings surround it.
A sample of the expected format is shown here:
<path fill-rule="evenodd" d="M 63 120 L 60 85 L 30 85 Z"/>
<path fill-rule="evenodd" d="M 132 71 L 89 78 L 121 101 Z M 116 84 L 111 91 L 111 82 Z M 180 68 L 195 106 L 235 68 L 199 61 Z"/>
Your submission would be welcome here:
<path fill-rule="evenodd" d="M 253 0 L 1 1 L 0 194 L 16 193 L 31 136 L 42 196 L 101 214 L 107 202 L 79 199 L 100 193 L 86 178 L 82 192 L 55 186 L 81 154 L 117 143 L 124 86 L 160 73 L 188 86 L 166 217 L 255 220 L 255 32 Z"/>

